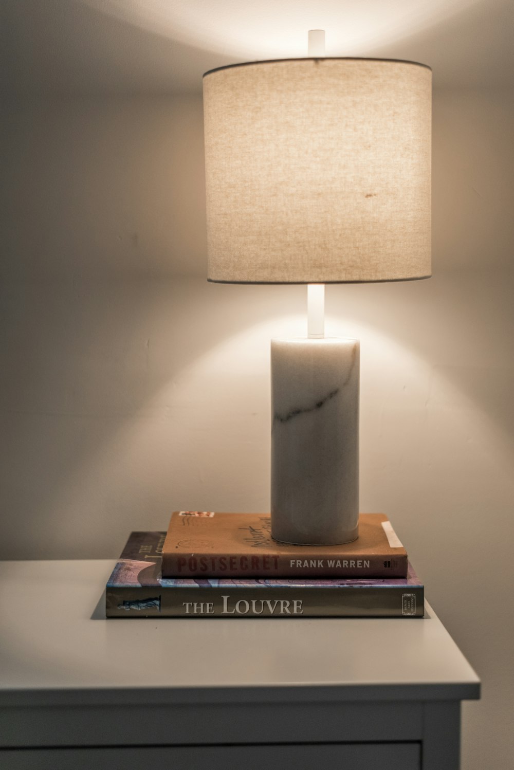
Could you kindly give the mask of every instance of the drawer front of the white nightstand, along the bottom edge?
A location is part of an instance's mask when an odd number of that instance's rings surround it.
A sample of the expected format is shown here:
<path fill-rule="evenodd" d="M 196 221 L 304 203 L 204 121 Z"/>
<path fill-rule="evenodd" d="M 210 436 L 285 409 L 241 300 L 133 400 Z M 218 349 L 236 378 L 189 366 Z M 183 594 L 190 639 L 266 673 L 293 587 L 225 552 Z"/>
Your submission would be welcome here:
<path fill-rule="evenodd" d="M 419 743 L 2 749 L 2 770 L 420 770 Z"/>

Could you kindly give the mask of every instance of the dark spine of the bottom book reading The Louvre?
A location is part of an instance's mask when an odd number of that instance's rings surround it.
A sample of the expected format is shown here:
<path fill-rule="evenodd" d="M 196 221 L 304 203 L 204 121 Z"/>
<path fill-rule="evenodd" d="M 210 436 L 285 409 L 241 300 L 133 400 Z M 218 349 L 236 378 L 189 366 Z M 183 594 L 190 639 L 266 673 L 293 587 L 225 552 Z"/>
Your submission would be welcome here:
<path fill-rule="evenodd" d="M 422 618 L 422 586 L 107 588 L 108 618 Z"/>

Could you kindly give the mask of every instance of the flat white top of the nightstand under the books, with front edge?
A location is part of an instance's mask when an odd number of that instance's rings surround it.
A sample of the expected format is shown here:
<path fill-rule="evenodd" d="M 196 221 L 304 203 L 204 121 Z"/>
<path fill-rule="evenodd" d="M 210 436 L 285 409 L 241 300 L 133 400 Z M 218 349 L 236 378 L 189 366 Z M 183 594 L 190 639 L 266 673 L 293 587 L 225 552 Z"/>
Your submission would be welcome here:
<path fill-rule="evenodd" d="M 0 562 L 0 705 L 478 698 L 479 678 L 426 618 L 103 616 L 115 561 Z"/>

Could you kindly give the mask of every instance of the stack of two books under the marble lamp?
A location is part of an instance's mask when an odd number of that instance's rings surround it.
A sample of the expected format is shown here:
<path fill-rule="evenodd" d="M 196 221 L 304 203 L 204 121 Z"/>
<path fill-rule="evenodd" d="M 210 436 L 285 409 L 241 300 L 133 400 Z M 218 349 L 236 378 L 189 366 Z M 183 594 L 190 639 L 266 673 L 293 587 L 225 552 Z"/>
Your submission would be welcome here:
<path fill-rule="evenodd" d="M 424 591 L 384 514 L 338 546 L 277 543 L 269 514 L 177 511 L 132 532 L 108 580 L 108 618 L 421 618 Z"/>

